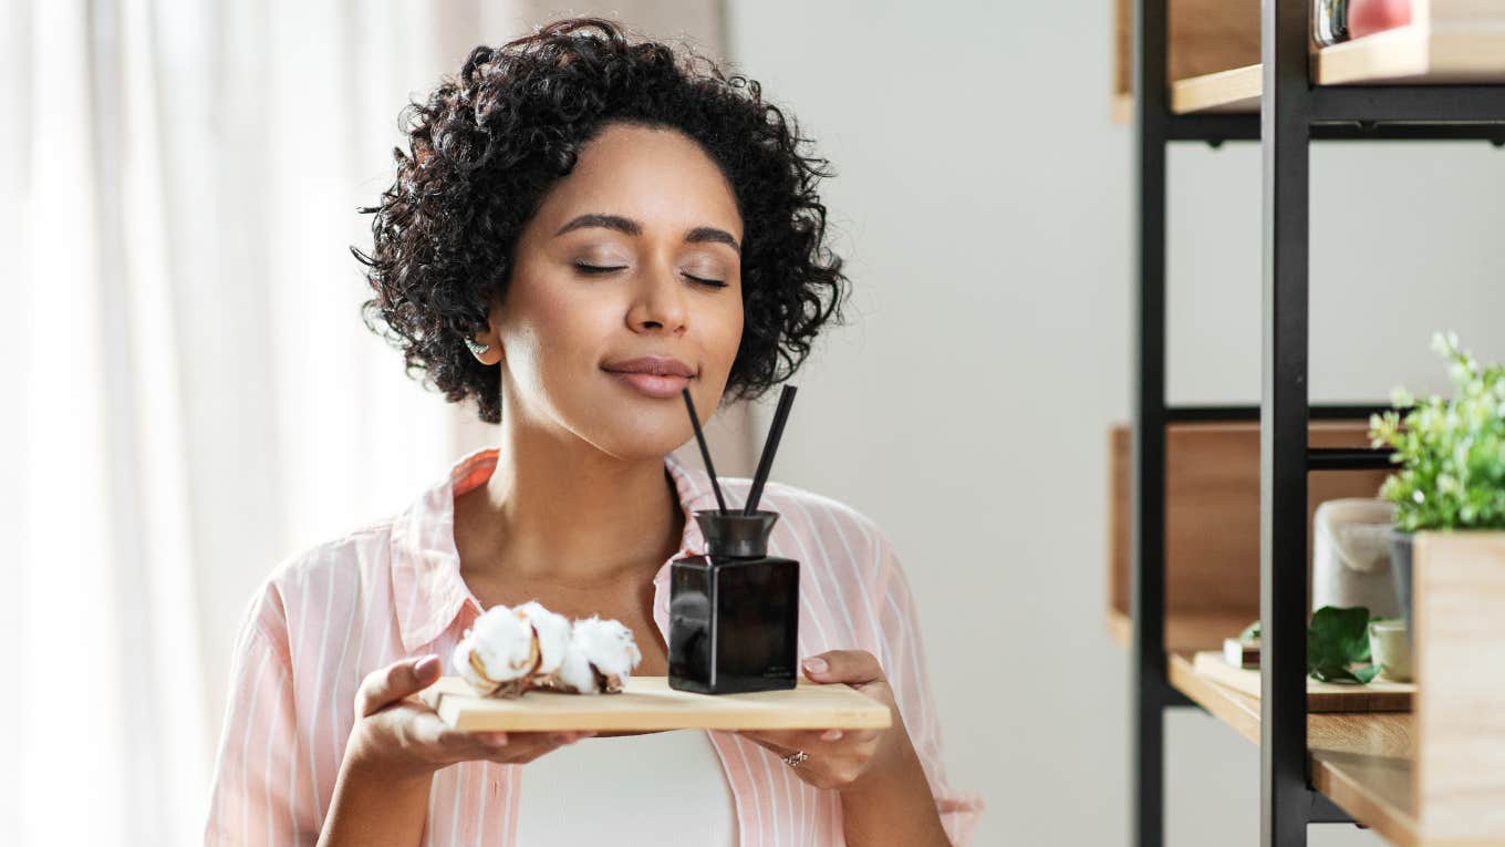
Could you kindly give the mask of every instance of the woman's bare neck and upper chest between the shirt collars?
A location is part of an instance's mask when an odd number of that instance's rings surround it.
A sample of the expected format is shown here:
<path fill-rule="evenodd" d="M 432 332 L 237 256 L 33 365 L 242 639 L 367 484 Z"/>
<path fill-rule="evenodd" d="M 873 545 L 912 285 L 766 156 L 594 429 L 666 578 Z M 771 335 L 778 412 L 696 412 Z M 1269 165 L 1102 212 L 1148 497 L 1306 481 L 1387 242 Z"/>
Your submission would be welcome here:
<path fill-rule="evenodd" d="M 515 416 L 513 416 L 515 417 Z M 617 458 L 573 433 L 503 416 L 497 470 L 456 502 L 467 571 L 480 577 L 599 585 L 656 573 L 685 527 L 664 457 Z"/>

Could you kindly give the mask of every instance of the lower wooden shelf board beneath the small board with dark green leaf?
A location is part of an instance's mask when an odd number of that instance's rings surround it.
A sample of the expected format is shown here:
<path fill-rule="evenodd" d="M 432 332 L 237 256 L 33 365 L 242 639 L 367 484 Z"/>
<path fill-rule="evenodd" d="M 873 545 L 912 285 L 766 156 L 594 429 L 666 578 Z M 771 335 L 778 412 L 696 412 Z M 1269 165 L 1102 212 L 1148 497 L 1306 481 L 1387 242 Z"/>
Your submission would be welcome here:
<path fill-rule="evenodd" d="M 1192 654 L 1172 653 L 1171 686 L 1236 732 L 1260 743 L 1260 701 L 1224 687 L 1192 668 Z M 1306 717 L 1312 784 L 1391 844 L 1424 847 L 1412 796 L 1412 716 L 1329 713 Z"/>

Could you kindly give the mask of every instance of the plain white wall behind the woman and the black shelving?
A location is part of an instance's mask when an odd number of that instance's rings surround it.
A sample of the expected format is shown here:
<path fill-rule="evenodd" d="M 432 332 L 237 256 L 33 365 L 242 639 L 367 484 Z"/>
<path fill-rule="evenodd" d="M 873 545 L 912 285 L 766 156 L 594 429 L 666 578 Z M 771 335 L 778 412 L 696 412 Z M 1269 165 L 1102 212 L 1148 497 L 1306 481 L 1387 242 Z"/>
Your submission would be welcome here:
<path fill-rule="evenodd" d="M 895 541 L 951 778 L 989 802 L 978 844 L 1127 844 L 1129 669 L 1102 612 L 1133 280 L 1111 8 L 731 0 L 730 36 L 840 169 L 858 288 L 795 380 L 775 473 Z M 1258 169 L 1254 145 L 1172 149 L 1172 402 L 1258 398 Z M 1434 329 L 1505 356 L 1502 188 L 1482 143 L 1314 151 L 1314 401 L 1443 387 Z M 1172 713 L 1166 761 L 1169 844 L 1255 839 L 1252 745 Z"/>

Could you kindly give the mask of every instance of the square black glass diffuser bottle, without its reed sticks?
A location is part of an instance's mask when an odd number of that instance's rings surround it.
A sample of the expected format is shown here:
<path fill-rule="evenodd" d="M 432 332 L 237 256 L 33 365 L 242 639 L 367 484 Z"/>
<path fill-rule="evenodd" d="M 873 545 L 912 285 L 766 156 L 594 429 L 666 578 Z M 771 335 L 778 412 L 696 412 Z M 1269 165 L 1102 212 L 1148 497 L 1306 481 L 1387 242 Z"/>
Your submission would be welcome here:
<path fill-rule="evenodd" d="M 778 512 L 700 509 L 704 556 L 670 565 L 668 684 L 707 695 L 792 689 L 799 562 L 768 555 Z"/>

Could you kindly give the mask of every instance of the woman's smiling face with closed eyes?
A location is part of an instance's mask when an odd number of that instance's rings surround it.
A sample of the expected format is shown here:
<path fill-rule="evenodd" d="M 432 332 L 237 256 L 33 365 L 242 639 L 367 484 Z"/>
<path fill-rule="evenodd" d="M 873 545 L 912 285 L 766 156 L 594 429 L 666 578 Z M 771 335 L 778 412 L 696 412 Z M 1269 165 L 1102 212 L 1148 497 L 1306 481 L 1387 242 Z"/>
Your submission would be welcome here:
<path fill-rule="evenodd" d="M 619 458 L 685 443 L 679 389 L 707 417 L 742 341 L 740 244 L 731 185 L 694 140 L 608 125 L 524 228 L 491 310 L 483 360 L 501 359 L 503 417 L 566 430 Z M 692 375 L 617 372 L 641 357 Z"/>

